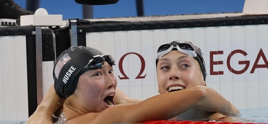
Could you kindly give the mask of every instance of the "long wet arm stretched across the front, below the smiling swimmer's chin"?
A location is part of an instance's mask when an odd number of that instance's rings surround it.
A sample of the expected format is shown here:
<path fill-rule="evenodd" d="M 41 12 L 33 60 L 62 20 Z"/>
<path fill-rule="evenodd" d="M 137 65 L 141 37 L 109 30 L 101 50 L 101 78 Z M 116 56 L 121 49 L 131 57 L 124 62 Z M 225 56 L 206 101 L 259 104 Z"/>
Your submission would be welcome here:
<path fill-rule="evenodd" d="M 93 123 L 141 123 L 163 120 L 191 108 L 230 116 L 239 114 L 238 110 L 219 93 L 209 87 L 197 86 L 188 90 L 159 94 L 140 103 L 109 107 L 100 113 Z"/>

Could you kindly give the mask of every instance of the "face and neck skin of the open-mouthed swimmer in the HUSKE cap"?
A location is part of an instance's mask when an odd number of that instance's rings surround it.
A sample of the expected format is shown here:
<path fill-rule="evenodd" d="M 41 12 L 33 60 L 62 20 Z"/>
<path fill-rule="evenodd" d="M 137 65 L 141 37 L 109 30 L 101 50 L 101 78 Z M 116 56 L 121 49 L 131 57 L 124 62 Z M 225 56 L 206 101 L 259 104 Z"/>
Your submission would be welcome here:
<path fill-rule="evenodd" d="M 63 112 L 67 120 L 91 112 L 102 112 L 114 105 L 113 96 L 117 80 L 113 67 L 104 62 L 96 70 L 88 70 L 79 77 L 74 94 L 65 101 Z"/>

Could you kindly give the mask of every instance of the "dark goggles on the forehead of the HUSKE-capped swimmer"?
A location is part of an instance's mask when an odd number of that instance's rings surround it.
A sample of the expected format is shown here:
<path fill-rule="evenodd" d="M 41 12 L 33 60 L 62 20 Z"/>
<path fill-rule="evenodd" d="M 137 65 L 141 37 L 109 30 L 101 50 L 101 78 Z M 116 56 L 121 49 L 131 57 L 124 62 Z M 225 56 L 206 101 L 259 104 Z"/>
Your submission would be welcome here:
<path fill-rule="evenodd" d="M 107 61 L 109 65 L 115 65 L 115 60 L 113 59 L 113 56 L 102 54 L 93 56 L 93 59 L 91 59 L 83 69 L 87 71 L 102 68 L 104 65 L 104 61 Z"/>

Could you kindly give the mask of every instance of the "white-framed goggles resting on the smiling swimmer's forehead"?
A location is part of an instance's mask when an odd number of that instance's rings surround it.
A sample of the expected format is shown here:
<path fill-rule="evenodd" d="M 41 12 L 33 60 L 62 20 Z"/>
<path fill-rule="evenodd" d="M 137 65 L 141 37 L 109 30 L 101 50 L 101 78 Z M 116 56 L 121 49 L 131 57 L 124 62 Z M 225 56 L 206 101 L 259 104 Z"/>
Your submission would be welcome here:
<path fill-rule="evenodd" d="M 165 54 L 168 54 L 171 50 L 175 50 L 175 48 L 177 48 L 179 52 L 188 54 L 192 57 L 197 57 L 197 52 L 194 51 L 194 48 L 191 44 L 192 43 L 188 41 L 172 41 L 171 43 L 161 45 L 157 50 L 156 59 L 160 59 Z"/>

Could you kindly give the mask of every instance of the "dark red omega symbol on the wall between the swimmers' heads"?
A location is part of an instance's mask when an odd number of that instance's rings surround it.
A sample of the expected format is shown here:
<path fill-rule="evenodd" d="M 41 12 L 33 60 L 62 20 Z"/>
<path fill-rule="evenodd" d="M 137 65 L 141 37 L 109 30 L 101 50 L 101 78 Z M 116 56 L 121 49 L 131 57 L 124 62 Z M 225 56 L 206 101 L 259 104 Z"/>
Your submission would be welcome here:
<path fill-rule="evenodd" d="M 121 72 L 121 74 L 122 74 L 123 76 L 120 77 L 120 76 L 118 75 L 119 79 L 121 79 L 121 80 L 122 80 L 122 79 L 129 79 L 129 76 L 126 76 L 126 74 L 124 73 L 124 69 L 123 69 L 123 61 L 124 61 L 124 58 L 125 58 L 127 55 L 129 55 L 129 54 L 135 54 L 135 55 L 137 55 L 137 56 L 139 57 L 139 60 L 140 60 L 141 63 L 142 63 L 141 68 L 140 68 L 140 70 L 139 70 L 139 74 L 137 74 L 137 76 L 136 76 L 135 79 L 145 79 L 146 74 L 144 74 L 144 76 L 142 76 L 142 73 L 144 72 L 144 69 L 145 69 L 145 61 L 144 61 L 144 58 L 142 57 L 142 55 L 137 54 L 136 52 L 129 52 L 129 53 L 126 53 L 126 54 L 124 54 L 124 55 L 121 57 L 121 59 L 120 59 L 120 61 L 119 61 L 119 63 L 118 63 L 118 68 L 119 68 L 119 70 L 120 70 L 120 72 Z"/>

